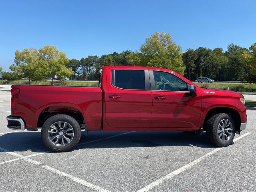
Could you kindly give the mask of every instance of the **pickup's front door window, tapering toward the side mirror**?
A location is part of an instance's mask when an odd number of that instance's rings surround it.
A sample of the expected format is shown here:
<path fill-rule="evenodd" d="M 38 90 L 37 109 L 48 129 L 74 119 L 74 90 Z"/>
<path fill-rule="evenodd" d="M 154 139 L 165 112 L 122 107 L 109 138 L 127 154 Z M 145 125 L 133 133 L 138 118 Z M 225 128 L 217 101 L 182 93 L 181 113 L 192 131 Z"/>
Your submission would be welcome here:
<path fill-rule="evenodd" d="M 162 91 L 188 91 L 187 83 L 173 74 L 153 71 L 155 89 Z"/>

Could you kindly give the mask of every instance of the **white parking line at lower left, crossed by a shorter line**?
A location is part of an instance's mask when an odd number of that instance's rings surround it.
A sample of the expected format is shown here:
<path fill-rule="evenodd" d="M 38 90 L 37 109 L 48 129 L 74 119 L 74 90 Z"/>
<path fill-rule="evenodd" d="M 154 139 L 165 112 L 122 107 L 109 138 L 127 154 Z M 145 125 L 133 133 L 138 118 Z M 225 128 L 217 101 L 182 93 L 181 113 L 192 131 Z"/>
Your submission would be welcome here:
<path fill-rule="evenodd" d="M 10 154 L 10 155 L 12 155 L 12 156 L 18 157 L 18 159 L 25 160 L 25 161 L 30 162 L 30 163 L 32 163 L 32 164 L 36 164 L 36 165 L 41 165 L 41 164 L 42 164 L 42 163 L 40 163 L 40 162 L 38 162 L 38 161 L 35 161 L 35 160 L 33 160 L 33 159 L 28 158 L 28 156 L 23 156 L 23 155 L 20 155 L 20 154 L 11 152 L 11 151 L 9 151 L 9 150 L 7 150 L 7 149 L 5 149 L 5 148 L 2 148 L 2 147 L 0 147 L 0 151 L 5 152 L 5 153 L 7 153 L 7 154 Z M 40 153 L 40 154 L 44 154 L 44 153 Z M 39 153 L 38 153 L 38 155 L 39 155 Z M 32 156 L 32 155 L 31 155 L 31 156 Z M 35 154 L 34 154 L 34 156 L 35 156 Z M 10 161 L 11 161 L 11 160 L 10 160 Z M 9 162 L 10 162 L 10 161 L 9 161 Z M 12 160 L 12 161 L 14 161 L 14 160 Z M 101 187 L 99 187 L 99 186 L 97 186 L 97 185 L 95 185 L 95 184 L 89 183 L 89 182 L 87 182 L 87 181 L 85 181 L 85 180 L 83 180 L 83 179 L 77 178 L 77 177 L 75 177 L 75 176 L 72 176 L 72 175 L 70 175 L 70 174 L 67 174 L 67 173 L 65 173 L 65 172 L 62 172 L 62 171 L 57 170 L 57 169 L 55 169 L 55 168 L 52 168 L 52 167 L 50 167 L 50 166 L 43 165 L 43 166 L 41 166 L 41 167 L 44 168 L 44 169 L 46 169 L 46 170 L 48 170 L 48 171 L 50 171 L 50 172 L 53 172 L 53 173 L 55 173 L 55 174 L 58 174 L 58 175 L 60 175 L 60 176 L 62 176 L 62 177 L 68 178 L 68 179 L 70 179 L 70 180 L 72 180 L 72 181 L 74 181 L 74 182 L 77 182 L 77 183 L 79 183 L 79 184 L 82 184 L 82 185 L 84 185 L 84 186 L 87 186 L 87 187 L 89 187 L 89 188 L 91 188 L 91 189 L 93 189 L 93 190 L 103 191 L 103 192 L 109 192 L 108 190 L 106 190 L 106 189 L 104 189 L 104 188 L 101 188 Z"/>

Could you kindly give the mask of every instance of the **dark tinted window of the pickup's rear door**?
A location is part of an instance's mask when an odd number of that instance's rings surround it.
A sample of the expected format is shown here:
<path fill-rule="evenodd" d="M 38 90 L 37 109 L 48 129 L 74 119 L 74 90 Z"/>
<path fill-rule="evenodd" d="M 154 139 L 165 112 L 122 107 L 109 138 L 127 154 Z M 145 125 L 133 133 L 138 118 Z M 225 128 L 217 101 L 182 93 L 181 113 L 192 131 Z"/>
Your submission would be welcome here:
<path fill-rule="evenodd" d="M 112 84 L 122 89 L 145 90 L 144 70 L 113 70 Z"/>

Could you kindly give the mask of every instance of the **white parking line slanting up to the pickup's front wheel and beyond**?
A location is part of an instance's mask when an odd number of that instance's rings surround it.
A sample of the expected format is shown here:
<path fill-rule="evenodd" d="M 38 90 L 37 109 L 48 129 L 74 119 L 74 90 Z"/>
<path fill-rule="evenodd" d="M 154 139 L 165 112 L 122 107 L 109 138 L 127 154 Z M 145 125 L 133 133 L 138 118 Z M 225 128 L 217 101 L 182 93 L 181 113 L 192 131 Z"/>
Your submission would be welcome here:
<path fill-rule="evenodd" d="M 242 139 L 243 137 L 245 137 L 245 136 L 248 135 L 248 134 L 250 134 L 250 133 L 247 132 L 247 133 L 245 133 L 245 134 L 239 136 L 238 138 L 235 138 L 233 141 L 240 140 L 240 139 Z M 196 159 L 196 160 L 190 162 L 189 164 L 186 164 L 185 166 L 183 166 L 183 167 L 181 167 L 181 168 L 179 168 L 179 169 L 177 169 L 177 170 L 175 170 L 175 171 L 173 171 L 173 172 L 171 172 L 171 173 L 169 173 L 169 174 L 163 176 L 162 178 L 160 178 L 160 179 L 154 181 L 153 183 L 151 183 L 151 184 L 149 184 L 149 185 L 143 187 L 142 189 L 138 190 L 138 192 L 147 192 L 147 191 L 149 191 L 149 190 L 155 188 L 155 187 L 158 186 L 159 184 L 161 184 L 161 183 L 163 183 L 163 182 L 169 180 L 170 178 L 176 176 L 177 174 L 180 174 L 181 172 L 183 172 L 183 171 L 185 171 L 185 170 L 191 168 L 192 166 L 198 164 L 198 163 L 201 162 L 202 160 L 205 160 L 206 158 L 212 156 L 213 154 L 215 154 L 216 152 L 218 152 L 219 150 L 222 150 L 222 149 L 223 149 L 223 147 L 222 147 L 222 148 L 216 148 L 216 149 L 212 150 L 211 152 L 209 152 L 209 153 L 203 155 L 202 157 L 200 157 L 200 158 L 198 158 L 198 159 Z"/>

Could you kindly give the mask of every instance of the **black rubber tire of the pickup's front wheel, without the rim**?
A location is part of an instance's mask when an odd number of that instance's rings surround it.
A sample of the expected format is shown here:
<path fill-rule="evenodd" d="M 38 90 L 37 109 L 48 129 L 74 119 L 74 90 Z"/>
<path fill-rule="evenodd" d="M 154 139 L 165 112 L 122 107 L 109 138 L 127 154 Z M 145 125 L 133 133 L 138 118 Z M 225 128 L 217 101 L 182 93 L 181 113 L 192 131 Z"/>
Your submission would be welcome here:
<path fill-rule="evenodd" d="M 218 134 L 218 126 L 220 122 L 224 119 L 230 120 L 232 125 L 232 132 L 231 132 L 230 138 L 227 141 L 222 141 L 222 139 L 219 138 L 219 134 Z M 208 137 L 208 140 L 212 144 L 218 147 L 226 147 L 226 146 L 229 146 L 230 143 L 233 141 L 235 132 L 236 132 L 235 130 L 236 130 L 236 124 L 232 116 L 226 113 L 218 113 L 208 119 L 207 126 L 206 126 L 206 136 Z"/>

